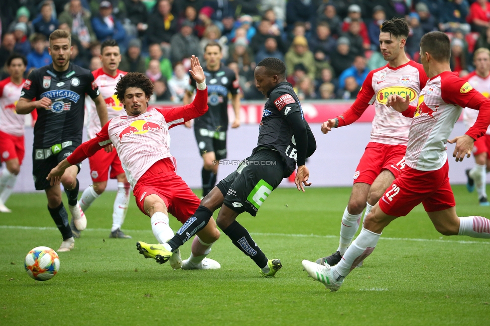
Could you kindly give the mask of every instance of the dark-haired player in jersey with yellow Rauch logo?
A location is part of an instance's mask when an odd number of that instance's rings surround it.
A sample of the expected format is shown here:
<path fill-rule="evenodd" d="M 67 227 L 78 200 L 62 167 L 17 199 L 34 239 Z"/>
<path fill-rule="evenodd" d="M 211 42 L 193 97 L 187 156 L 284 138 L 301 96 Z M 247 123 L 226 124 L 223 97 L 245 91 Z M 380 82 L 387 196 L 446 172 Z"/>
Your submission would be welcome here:
<path fill-rule="evenodd" d="M 425 86 L 427 75 L 422 65 L 405 55 L 405 43 L 409 33 L 405 20 L 385 21 L 381 27 L 380 48 L 388 64 L 373 70 L 366 77 L 354 104 L 334 119 L 324 122 L 324 134 L 355 122 L 374 104 L 376 114 L 371 129 L 371 140 L 366 146 L 354 173 L 354 184 L 349 203 L 340 224 L 340 241 L 336 252 L 319 258 L 335 265 L 340 261 L 359 228 L 362 211 L 369 214 L 386 188 L 405 167 L 405 151 L 411 119 L 386 106 L 390 94 L 409 95 L 412 104 L 417 103 L 420 90 Z"/>

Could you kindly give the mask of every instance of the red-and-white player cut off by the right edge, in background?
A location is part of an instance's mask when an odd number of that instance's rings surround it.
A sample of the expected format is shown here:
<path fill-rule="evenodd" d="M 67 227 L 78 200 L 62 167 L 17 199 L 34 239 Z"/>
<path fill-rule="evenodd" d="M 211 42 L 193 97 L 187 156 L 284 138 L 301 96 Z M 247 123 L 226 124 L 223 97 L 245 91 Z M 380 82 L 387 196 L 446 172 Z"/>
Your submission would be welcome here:
<path fill-rule="evenodd" d="M 480 48 L 473 54 L 473 63 L 475 70 L 464 76 L 475 90 L 483 94 L 484 97 L 490 97 L 490 51 L 486 48 Z M 463 121 L 466 130 L 471 128 L 476 121 L 477 111 L 471 108 L 463 109 Z M 466 170 L 468 182 L 466 187 L 472 192 L 476 186 L 478 201 L 480 206 L 490 206 L 486 196 L 486 173 L 490 164 L 488 164 L 488 152 L 490 151 L 490 128 L 486 130 L 485 135 L 478 138 L 473 147 L 473 157 L 475 165 L 472 169 Z"/>

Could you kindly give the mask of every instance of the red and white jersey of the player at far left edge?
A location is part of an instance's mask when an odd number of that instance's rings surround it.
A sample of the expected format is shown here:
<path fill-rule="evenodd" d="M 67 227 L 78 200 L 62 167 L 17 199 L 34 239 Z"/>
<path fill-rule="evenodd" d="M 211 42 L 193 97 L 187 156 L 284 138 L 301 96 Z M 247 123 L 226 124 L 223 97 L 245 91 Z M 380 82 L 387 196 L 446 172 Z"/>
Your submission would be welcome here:
<path fill-rule="evenodd" d="M 8 77 L 0 82 L 0 131 L 18 137 L 24 136 L 26 116 L 17 114 L 15 107 L 25 81 L 23 79 L 21 85 L 16 85 Z"/>

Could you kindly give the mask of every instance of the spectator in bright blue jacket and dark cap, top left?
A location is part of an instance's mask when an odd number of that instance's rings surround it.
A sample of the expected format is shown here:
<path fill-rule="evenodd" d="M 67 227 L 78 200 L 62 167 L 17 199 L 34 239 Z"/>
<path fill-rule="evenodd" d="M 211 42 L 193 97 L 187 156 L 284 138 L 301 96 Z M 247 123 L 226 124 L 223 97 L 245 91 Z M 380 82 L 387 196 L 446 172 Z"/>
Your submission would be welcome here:
<path fill-rule="evenodd" d="M 112 15 L 112 4 L 103 0 L 99 5 L 100 16 L 92 18 L 92 27 L 99 41 L 113 39 L 122 51 L 126 50 L 126 31 L 121 22 Z"/>

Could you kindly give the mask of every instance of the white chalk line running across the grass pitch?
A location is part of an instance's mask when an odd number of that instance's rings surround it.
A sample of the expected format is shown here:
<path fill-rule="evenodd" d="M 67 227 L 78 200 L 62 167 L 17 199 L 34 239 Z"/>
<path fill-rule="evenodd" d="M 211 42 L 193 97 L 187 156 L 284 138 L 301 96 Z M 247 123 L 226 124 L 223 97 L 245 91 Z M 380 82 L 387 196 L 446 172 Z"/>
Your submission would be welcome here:
<path fill-rule="evenodd" d="M 58 230 L 56 227 L 47 226 L 21 226 L 21 225 L 0 225 L 0 229 L 19 229 L 19 230 Z M 90 231 L 103 231 L 108 232 L 109 229 L 85 229 L 83 232 Z M 124 230 L 127 233 L 150 233 L 151 230 Z M 317 235 L 317 234 L 289 234 L 289 233 L 259 233 L 251 232 L 250 235 L 260 235 L 260 236 L 286 236 L 293 238 L 338 238 L 337 235 Z M 466 240 L 442 240 L 442 239 L 417 239 L 417 238 L 392 238 L 392 237 L 381 237 L 380 240 L 391 240 L 391 241 L 417 241 L 417 242 L 442 242 L 442 243 L 461 243 L 461 244 L 483 244 L 490 245 L 490 241 L 466 241 Z"/>

